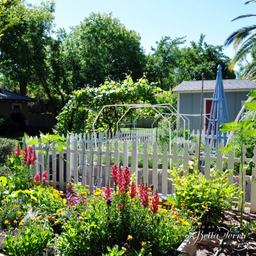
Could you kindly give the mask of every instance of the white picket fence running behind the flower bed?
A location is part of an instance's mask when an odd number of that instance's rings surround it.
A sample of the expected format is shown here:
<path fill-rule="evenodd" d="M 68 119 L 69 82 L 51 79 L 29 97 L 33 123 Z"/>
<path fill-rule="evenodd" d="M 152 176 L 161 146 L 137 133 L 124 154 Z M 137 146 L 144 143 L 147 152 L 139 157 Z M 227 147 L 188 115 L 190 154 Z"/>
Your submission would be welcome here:
<path fill-rule="evenodd" d="M 125 136 L 123 136 L 124 138 Z M 87 138 L 86 138 L 87 139 Z M 173 153 L 168 154 L 168 145 L 165 142 L 163 146 L 163 153 L 159 154 L 157 152 L 158 146 L 157 143 L 153 144 L 153 153 L 148 153 L 148 142 L 144 141 L 144 151 L 138 152 L 138 142 L 136 140 L 133 141 L 132 151 L 128 152 L 128 143 L 127 140 L 124 141 L 124 150 L 121 152 L 119 150 L 119 141 L 115 140 L 114 145 L 113 142 L 107 140 L 105 142 L 106 150 L 102 149 L 102 142 L 97 142 L 97 148 L 95 147 L 94 140 L 88 142 L 85 140 L 85 137 L 82 138 L 79 136 L 68 136 L 66 140 L 69 148 L 64 148 L 63 152 L 56 152 L 53 149 L 50 152 L 49 159 L 44 159 L 44 155 L 39 154 L 38 150 L 41 150 L 40 146 L 34 146 L 36 150 L 38 162 L 36 163 L 33 171 L 33 175 L 36 173 L 43 171 L 41 165 L 39 163 L 44 163 L 45 161 L 49 161 L 51 158 L 51 168 L 47 169 L 48 172 L 48 181 L 53 180 L 53 186 L 58 186 L 60 190 L 63 190 L 67 184 L 67 181 L 72 178 L 74 183 L 81 184 L 88 189 L 93 189 L 93 184 L 96 179 L 98 179 L 98 184 L 103 179 L 103 184 L 106 184 L 106 181 L 111 177 L 111 158 L 114 159 L 114 163 L 120 162 L 120 157 L 123 158 L 123 166 L 128 166 L 128 158 L 131 158 L 131 173 L 135 173 L 135 176 L 139 182 L 138 177 L 143 175 L 144 181 L 147 181 L 148 184 L 154 184 L 155 187 L 160 187 L 159 192 L 163 195 L 172 194 L 174 192 L 174 188 L 171 182 L 167 179 L 168 173 L 168 162 L 172 164 L 178 164 L 178 161 L 181 159 L 183 162 L 183 175 L 186 175 L 188 172 L 188 163 L 189 160 L 198 159 L 198 148 L 199 145 L 196 144 L 195 147 L 195 156 L 190 156 L 188 154 L 188 145 L 184 144 L 184 154 L 178 154 L 178 146 L 174 143 Z M 23 146 L 25 146 L 25 141 Z M 221 145 L 219 145 L 219 148 Z M 244 152 L 245 161 L 256 160 L 256 146 L 253 150 L 254 156 L 252 159 L 247 159 Z M 65 156 L 65 160 L 64 160 Z M 138 168 L 138 159 L 141 157 L 143 159 L 143 169 L 140 170 Z M 105 163 L 103 164 L 103 158 L 105 159 Z M 152 171 L 148 168 L 149 159 L 152 159 Z M 223 157 L 221 151 L 217 152 L 216 156 L 210 155 L 210 146 L 206 146 L 206 154 L 205 156 L 200 157 L 201 160 L 204 161 L 204 175 L 207 179 L 210 179 L 210 167 L 211 161 L 216 162 L 216 169 L 221 170 L 223 166 L 223 162 L 227 162 L 228 169 L 234 168 L 234 163 L 239 163 L 240 158 L 234 158 L 232 152 L 230 152 L 228 157 Z M 161 170 L 158 168 L 159 162 L 162 163 Z M 65 168 L 64 168 L 65 167 Z M 140 172 L 139 172 L 140 171 Z M 54 175 L 51 175 L 53 173 Z M 229 175 L 229 183 L 233 183 L 233 173 Z M 240 174 L 241 175 L 241 174 Z M 244 180 L 245 180 L 245 173 Z M 256 167 L 252 168 L 252 176 L 256 175 Z M 239 179 L 239 182 L 240 179 Z M 251 191 L 250 191 L 250 203 L 247 203 L 246 206 L 251 207 L 251 212 L 256 212 L 256 183 L 251 182 Z"/>

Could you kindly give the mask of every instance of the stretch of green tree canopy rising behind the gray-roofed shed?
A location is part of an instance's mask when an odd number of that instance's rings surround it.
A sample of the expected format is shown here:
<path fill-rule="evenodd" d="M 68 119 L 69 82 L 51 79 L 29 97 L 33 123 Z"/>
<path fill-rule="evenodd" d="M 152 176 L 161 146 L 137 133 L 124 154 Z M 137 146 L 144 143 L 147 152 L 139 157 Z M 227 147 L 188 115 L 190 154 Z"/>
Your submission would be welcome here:
<path fill-rule="evenodd" d="M 168 90 L 185 80 L 200 80 L 202 74 L 205 79 L 216 79 L 217 66 L 222 66 L 224 79 L 235 78 L 235 73 L 228 71 L 230 58 L 222 52 L 222 46 L 214 46 L 204 42 L 205 35 L 200 36 L 198 42 L 191 42 L 191 46 L 181 47 L 183 38 L 170 39 L 163 37 L 152 48 L 153 54 L 148 56 L 147 71 L 149 81 L 159 83 Z"/>

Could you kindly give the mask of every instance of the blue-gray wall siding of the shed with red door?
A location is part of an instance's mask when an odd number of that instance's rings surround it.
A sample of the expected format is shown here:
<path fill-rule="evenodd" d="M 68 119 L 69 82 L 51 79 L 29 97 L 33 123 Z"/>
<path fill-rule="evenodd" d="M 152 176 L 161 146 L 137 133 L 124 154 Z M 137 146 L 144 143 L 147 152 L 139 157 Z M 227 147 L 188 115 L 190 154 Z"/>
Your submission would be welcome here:
<path fill-rule="evenodd" d="M 235 120 L 237 114 L 241 110 L 241 102 L 248 99 L 248 92 L 225 92 L 229 121 Z M 213 93 L 203 93 L 203 98 L 212 98 Z M 204 102 L 203 102 L 204 104 Z M 181 114 L 200 114 L 201 93 L 180 93 L 180 113 Z M 204 109 L 204 105 L 203 105 Z M 189 129 L 196 131 L 200 128 L 200 117 L 188 117 Z M 183 121 L 180 121 L 183 125 Z M 187 129 L 186 124 L 186 129 Z"/>

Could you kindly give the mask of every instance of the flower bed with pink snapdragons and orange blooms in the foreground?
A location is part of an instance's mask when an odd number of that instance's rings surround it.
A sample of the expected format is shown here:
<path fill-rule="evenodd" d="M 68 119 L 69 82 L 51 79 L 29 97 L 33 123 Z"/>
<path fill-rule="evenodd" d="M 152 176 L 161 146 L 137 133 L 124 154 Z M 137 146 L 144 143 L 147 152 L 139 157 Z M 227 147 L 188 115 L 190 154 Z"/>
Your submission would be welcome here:
<path fill-rule="evenodd" d="M 169 255 L 197 226 L 198 216 L 184 201 L 180 208 L 160 205 L 153 184 L 142 177 L 137 186 L 128 167 L 113 166 L 113 189 L 109 182 L 104 189 L 95 184 L 91 194 L 69 182 L 63 195 L 47 184 L 47 172 L 28 182 L 35 155 L 30 148 L 24 152 L 13 156 L 19 171 L 0 177 L 5 255 Z"/>

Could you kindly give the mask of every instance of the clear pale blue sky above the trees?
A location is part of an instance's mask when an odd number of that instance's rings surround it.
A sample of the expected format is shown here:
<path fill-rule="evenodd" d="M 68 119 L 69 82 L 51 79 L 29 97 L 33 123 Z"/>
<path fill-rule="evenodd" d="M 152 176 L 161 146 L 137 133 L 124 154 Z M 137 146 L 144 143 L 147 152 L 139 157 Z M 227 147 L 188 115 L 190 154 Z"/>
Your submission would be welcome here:
<path fill-rule="evenodd" d="M 40 4 L 41 0 L 27 0 Z M 187 36 L 185 45 L 198 41 L 205 34 L 208 44 L 223 45 L 234 30 L 254 24 L 255 18 L 231 22 L 239 15 L 254 13 L 256 4 L 244 5 L 246 0 L 56 0 L 56 28 L 78 25 L 91 12 L 112 12 L 127 29 L 141 35 L 141 45 L 150 52 L 162 36 Z M 232 46 L 224 49 L 230 58 Z"/>

